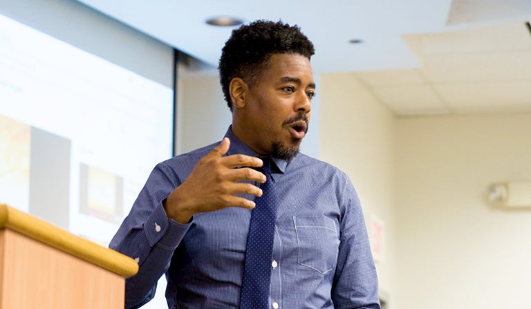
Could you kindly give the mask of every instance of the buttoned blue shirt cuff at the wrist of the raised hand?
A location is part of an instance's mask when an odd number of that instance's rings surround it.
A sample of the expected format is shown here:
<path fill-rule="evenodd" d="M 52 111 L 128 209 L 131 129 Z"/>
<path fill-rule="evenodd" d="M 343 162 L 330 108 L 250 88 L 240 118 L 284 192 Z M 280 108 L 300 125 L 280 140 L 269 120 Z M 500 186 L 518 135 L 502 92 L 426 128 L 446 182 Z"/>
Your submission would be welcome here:
<path fill-rule="evenodd" d="M 160 203 L 151 216 L 147 218 L 144 231 L 151 247 L 157 245 L 168 250 L 174 250 L 183 240 L 192 222 L 193 218 L 186 224 L 171 220 L 167 217 L 164 207 Z"/>

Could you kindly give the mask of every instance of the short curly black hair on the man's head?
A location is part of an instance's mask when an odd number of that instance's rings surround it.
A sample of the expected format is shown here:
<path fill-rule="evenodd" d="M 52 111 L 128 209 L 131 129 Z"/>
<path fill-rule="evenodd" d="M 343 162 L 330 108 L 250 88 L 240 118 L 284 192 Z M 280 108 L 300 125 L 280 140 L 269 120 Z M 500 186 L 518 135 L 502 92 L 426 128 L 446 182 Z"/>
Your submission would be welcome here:
<path fill-rule="evenodd" d="M 258 20 L 232 30 L 218 66 L 223 96 L 231 111 L 230 81 L 241 77 L 252 86 L 272 55 L 286 53 L 303 55 L 308 59 L 315 53 L 312 42 L 297 25 Z"/>

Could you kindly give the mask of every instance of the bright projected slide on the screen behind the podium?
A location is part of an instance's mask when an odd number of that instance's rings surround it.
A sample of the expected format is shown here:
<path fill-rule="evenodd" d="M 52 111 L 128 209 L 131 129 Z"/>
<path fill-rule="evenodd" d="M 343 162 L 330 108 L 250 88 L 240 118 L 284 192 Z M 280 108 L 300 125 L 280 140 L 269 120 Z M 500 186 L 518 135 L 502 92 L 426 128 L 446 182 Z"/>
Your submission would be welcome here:
<path fill-rule="evenodd" d="M 0 203 L 106 245 L 173 113 L 171 88 L 0 15 Z"/>

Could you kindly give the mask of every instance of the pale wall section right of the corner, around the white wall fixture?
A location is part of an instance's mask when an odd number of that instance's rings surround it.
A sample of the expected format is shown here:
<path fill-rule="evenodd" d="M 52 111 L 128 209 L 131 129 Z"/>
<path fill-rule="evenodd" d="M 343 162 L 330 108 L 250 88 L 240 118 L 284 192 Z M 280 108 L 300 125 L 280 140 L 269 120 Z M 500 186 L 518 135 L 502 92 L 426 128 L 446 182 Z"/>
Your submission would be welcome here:
<path fill-rule="evenodd" d="M 531 114 L 395 128 L 395 308 L 528 308 L 531 209 L 495 209 L 485 194 L 492 182 L 531 180 Z"/>

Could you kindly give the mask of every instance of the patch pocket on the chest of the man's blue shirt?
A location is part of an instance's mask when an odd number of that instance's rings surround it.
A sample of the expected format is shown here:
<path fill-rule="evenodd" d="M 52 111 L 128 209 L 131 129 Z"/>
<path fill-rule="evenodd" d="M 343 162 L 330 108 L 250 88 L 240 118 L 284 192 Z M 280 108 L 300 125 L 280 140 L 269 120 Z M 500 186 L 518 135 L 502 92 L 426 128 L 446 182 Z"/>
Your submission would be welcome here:
<path fill-rule="evenodd" d="M 339 236 L 333 219 L 323 215 L 293 216 L 300 265 L 326 274 L 335 268 Z"/>

